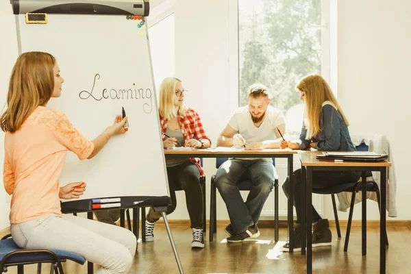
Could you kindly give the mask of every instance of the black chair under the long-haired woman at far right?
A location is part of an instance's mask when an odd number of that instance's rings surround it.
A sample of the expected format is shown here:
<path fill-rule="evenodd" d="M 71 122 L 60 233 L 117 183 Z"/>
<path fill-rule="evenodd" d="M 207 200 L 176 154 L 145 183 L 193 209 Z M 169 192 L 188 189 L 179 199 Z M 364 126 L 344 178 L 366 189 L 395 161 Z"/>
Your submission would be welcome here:
<path fill-rule="evenodd" d="M 369 146 L 365 145 L 362 143 L 361 145 L 356 147 L 357 151 L 369 151 Z M 371 171 L 366 173 L 367 177 L 371 177 Z M 316 189 L 313 188 L 312 192 L 316 194 L 323 194 L 323 195 L 331 195 L 332 198 L 332 207 L 334 210 L 334 217 L 336 220 L 336 229 L 337 229 L 337 235 L 338 238 L 341 238 L 341 232 L 340 232 L 340 223 L 338 221 L 338 213 L 337 213 L 337 206 L 336 206 L 336 198 L 335 195 L 340 193 L 340 192 L 351 192 L 352 197 L 351 197 L 351 205 L 349 208 L 349 219 L 347 223 L 347 234 L 345 235 L 345 243 L 344 243 L 344 251 L 347 252 L 348 250 L 348 243 L 349 243 L 349 234 L 351 231 L 351 223 L 353 219 L 353 210 L 354 210 L 354 204 L 356 201 L 356 193 L 358 191 L 362 190 L 362 182 L 349 182 L 347 184 L 340 184 L 338 186 L 333 186 L 331 188 L 321 188 L 321 189 Z M 377 202 L 378 202 L 378 209 L 381 213 L 381 203 L 380 203 L 380 197 L 379 197 L 379 188 L 377 183 L 374 181 L 367 181 L 366 182 L 366 191 L 367 192 L 376 192 L 377 193 Z M 388 245 L 388 236 L 386 234 L 386 245 Z"/>

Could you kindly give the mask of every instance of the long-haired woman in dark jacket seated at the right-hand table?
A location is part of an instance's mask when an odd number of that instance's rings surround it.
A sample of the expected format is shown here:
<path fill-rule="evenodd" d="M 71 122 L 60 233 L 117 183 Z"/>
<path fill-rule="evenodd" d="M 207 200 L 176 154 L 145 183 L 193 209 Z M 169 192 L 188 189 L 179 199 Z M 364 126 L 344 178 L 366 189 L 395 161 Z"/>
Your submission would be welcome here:
<path fill-rule="evenodd" d="M 297 84 L 296 90 L 300 93 L 300 99 L 306 105 L 303 127 L 299 140 L 295 142 L 282 141 L 282 149 L 310 149 L 311 147 L 323 151 L 356 151 L 351 137 L 349 136 L 348 120 L 331 88 L 320 75 L 308 75 Z M 294 173 L 294 206 L 297 212 L 297 223 L 294 227 L 294 250 L 301 250 L 301 169 Z M 314 171 L 312 173 L 312 188 L 321 189 L 348 182 L 357 182 L 360 178 L 359 172 L 332 172 Z M 290 183 L 288 178 L 283 184 L 284 192 L 288 197 Z M 307 220 L 308 221 L 308 220 Z M 312 234 L 312 247 L 331 245 L 332 234 L 329 230 L 328 220 L 321 216 L 312 206 L 312 223 L 314 231 Z M 282 247 L 288 251 L 289 242 Z"/>

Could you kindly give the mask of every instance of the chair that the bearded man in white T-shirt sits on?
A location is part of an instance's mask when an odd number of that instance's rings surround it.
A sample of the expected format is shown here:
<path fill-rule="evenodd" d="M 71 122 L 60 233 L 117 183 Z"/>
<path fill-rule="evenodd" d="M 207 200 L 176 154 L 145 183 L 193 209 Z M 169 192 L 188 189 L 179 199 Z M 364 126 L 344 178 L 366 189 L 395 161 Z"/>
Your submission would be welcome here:
<path fill-rule="evenodd" d="M 223 162 L 227 161 L 228 158 L 216 158 L 216 169 L 219 169 Z M 275 158 L 273 158 L 273 165 L 275 166 Z M 216 184 L 214 182 L 215 175 L 211 177 L 211 190 L 210 190 L 210 234 L 209 239 L 212 242 L 214 238 L 214 233 L 217 232 L 217 209 L 216 209 Z M 251 182 L 249 180 L 243 180 L 238 182 L 238 188 L 240 190 L 251 190 Z M 275 173 L 274 180 L 274 220 L 275 220 L 275 242 L 278 241 L 278 175 Z"/>

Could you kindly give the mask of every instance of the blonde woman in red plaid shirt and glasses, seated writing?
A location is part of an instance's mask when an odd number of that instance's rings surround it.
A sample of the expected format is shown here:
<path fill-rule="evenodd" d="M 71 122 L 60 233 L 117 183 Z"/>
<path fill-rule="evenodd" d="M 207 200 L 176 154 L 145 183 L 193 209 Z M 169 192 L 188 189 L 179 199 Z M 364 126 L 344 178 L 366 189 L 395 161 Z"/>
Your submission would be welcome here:
<path fill-rule="evenodd" d="M 199 114 L 184 105 L 185 92 L 182 81 L 177 78 L 166 78 L 160 86 L 158 108 L 164 149 L 180 146 L 206 149 L 211 145 Z M 191 247 L 203 248 L 203 195 L 200 177 L 204 173 L 200 160 L 199 158 L 166 159 L 166 167 L 172 200 L 172 205 L 169 206 L 166 214 L 172 213 L 177 206 L 175 187 L 179 186 L 186 192 L 186 204 L 192 228 Z M 160 217 L 160 212 L 150 208 L 145 223 L 147 242 L 153 241 L 154 224 Z"/>

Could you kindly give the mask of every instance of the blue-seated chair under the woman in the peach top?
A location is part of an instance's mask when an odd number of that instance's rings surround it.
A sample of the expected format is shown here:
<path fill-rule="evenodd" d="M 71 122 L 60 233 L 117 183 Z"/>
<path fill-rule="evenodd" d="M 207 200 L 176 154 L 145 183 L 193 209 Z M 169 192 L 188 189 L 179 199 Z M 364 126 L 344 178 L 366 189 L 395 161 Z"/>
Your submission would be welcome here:
<path fill-rule="evenodd" d="M 51 264 L 50 273 L 63 274 L 62 262 L 72 260 L 77 264 L 84 264 L 86 258 L 70 251 L 49 249 L 21 249 L 11 234 L 0 240 L 0 273 L 8 271 L 8 267 L 17 266 L 17 273 L 24 273 L 25 264 L 37 264 L 37 273 L 41 273 L 41 264 Z"/>

